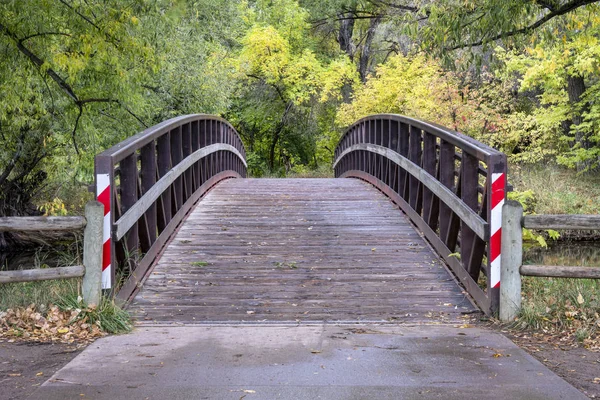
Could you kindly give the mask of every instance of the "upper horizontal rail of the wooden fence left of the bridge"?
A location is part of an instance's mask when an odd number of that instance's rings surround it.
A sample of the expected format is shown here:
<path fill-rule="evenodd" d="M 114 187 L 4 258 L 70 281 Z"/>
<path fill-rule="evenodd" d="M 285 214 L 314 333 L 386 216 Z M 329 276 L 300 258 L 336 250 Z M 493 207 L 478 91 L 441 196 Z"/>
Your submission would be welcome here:
<path fill-rule="evenodd" d="M 2 217 L 0 232 L 81 231 L 84 217 Z"/>

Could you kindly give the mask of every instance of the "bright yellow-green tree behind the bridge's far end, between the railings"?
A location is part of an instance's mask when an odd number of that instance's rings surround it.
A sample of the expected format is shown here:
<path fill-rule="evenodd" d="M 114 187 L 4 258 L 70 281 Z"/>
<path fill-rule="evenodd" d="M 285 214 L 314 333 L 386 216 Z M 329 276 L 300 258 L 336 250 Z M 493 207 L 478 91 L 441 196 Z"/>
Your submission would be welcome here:
<path fill-rule="evenodd" d="M 286 7 L 293 18 L 273 18 Z M 319 60 L 306 37 L 308 15 L 297 2 L 281 0 L 250 11 L 254 24 L 242 40 L 240 96 L 232 117 L 250 150 L 267 160 L 271 172 L 277 159 L 288 169 L 311 163 L 319 140 L 319 110 L 328 101 L 339 102 L 356 74 L 344 58 Z"/>

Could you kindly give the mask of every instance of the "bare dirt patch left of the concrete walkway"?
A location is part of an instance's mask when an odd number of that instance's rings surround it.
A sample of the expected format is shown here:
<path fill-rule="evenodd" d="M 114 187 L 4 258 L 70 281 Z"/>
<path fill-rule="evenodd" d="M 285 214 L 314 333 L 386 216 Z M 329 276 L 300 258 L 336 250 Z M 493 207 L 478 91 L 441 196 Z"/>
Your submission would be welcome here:
<path fill-rule="evenodd" d="M 82 350 L 60 343 L 0 342 L 0 399 L 26 399 Z"/>

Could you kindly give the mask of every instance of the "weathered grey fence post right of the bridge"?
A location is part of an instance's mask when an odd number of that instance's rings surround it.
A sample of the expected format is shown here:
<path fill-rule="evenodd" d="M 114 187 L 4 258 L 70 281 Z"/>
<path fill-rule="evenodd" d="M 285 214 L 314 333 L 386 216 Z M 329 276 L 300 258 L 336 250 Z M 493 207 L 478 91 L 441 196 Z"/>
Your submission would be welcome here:
<path fill-rule="evenodd" d="M 500 320 L 513 321 L 521 311 L 521 274 L 523 264 L 523 207 L 510 200 L 502 206 L 502 258 L 500 273 Z"/>

